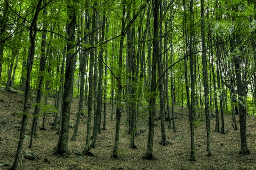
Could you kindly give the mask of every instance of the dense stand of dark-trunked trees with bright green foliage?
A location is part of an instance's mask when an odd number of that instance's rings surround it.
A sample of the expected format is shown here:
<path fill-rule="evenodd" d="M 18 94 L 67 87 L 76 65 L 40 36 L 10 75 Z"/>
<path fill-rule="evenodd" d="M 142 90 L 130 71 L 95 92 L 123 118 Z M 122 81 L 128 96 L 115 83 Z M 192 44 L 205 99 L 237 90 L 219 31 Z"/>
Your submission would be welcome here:
<path fill-rule="evenodd" d="M 176 131 L 175 106 L 188 108 L 191 161 L 195 160 L 194 122 L 200 117 L 206 121 L 208 156 L 210 120 L 215 119 L 215 132 L 225 133 L 225 114 L 232 115 L 235 130 L 239 115 L 239 154 L 249 154 L 246 116 L 256 114 L 255 9 L 255 0 L 2 0 L 0 83 L 8 92 L 24 94 L 12 168 L 20 157 L 32 92 L 36 105 L 29 125 L 31 144 L 38 118 L 47 116 L 43 113 L 47 98 L 56 99 L 53 130 L 58 130 L 59 139 L 54 155 L 69 155 L 70 104 L 76 97 L 79 108 L 72 140 L 80 117 L 86 116 L 83 155 L 93 155 L 90 148 L 95 148 L 101 133 L 101 113 L 106 129 L 107 102 L 116 109 L 114 158 L 121 116 L 128 122 L 130 148 L 137 148 L 139 108 L 145 104 L 149 133 L 144 159 L 155 159 L 158 117 L 160 144 L 170 144 L 165 133 Z"/>

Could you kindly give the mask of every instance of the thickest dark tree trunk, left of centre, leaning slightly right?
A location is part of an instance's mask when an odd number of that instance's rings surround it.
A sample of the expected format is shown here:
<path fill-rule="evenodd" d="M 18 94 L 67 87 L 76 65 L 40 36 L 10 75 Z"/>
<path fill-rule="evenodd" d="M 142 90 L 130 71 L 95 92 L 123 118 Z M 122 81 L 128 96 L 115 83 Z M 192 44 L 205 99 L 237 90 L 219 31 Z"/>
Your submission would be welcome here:
<path fill-rule="evenodd" d="M 58 144 L 54 147 L 53 155 L 67 156 L 68 151 L 68 136 L 69 136 L 69 122 L 70 122 L 70 105 L 72 100 L 72 87 L 73 87 L 73 72 L 76 61 L 75 52 L 75 28 L 76 28 L 76 0 L 67 0 L 67 56 L 65 67 L 65 82 L 63 93 L 63 107 L 61 113 L 61 129 L 58 138 Z"/>

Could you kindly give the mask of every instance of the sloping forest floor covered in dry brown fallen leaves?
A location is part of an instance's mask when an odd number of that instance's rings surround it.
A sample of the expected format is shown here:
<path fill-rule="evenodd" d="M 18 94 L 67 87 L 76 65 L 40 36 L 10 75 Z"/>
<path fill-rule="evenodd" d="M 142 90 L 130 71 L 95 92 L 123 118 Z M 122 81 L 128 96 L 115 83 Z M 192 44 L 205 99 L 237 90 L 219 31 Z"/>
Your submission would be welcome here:
<path fill-rule="evenodd" d="M 0 160 L 13 163 L 18 147 L 20 136 L 21 116 L 23 108 L 23 96 L 21 93 L 11 94 L 0 90 Z M 35 94 L 30 97 L 31 109 L 29 115 L 34 112 Z M 54 99 L 49 98 L 54 104 Z M 71 108 L 70 123 L 75 123 L 78 110 L 79 99 L 74 98 Z M 124 106 L 125 107 L 125 106 Z M 147 105 L 141 108 L 139 129 L 147 124 Z M 32 148 L 29 146 L 29 138 L 24 140 L 22 155 L 17 169 L 19 170 L 242 170 L 256 169 L 256 117 L 247 116 L 247 146 L 250 155 L 238 155 L 240 148 L 239 119 L 238 131 L 233 128 L 231 115 L 225 115 L 225 134 L 214 132 L 215 118 L 211 119 L 211 157 L 207 157 L 207 136 L 204 118 L 196 121 L 195 127 L 195 158 L 190 159 L 190 126 L 187 109 L 183 113 L 181 107 L 175 107 L 177 132 L 167 129 L 166 135 L 171 145 L 161 146 L 161 126 L 160 120 L 155 121 L 155 133 L 153 154 L 157 160 L 148 161 L 141 158 L 146 152 L 148 129 L 140 133 L 135 138 L 138 149 L 129 148 L 130 135 L 127 134 L 128 124 L 126 123 L 126 113 L 121 116 L 121 129 L 119 139 L 119 158 L 111 157 L 115 141 L 115 116 L 110 120 L 111 105 L 107 108 L 107 130 L 102 131 L 97 137 L 97 148 L 91 149 L 96 157 L 79 156 L 85 147 L 87 118 L 80 120 L 79 132 L 76 141 L 69 141 L 70 155 L 68 157 L 57 157 L 52 155 L 53 148 L 57 145 L 58 135 L 52 131 L 49 122 L 53 120 L 52 113 L 47 114 L 46 130 L 38 130 L 38 137 L 33 139 Z M 114 111 L 115 113 L 115 111 Z M 103 117 L 103 116 L 102 116 Z M 38 126 L 42 124 L 42 117 L 39 118 Z M 32 118 L 27 121 L 26 133 L 31 127 Z M 101 123 L 103 125 L 103 123 Z M 74 129 L 70 129 L 69 137 L 72 137 Z M 177 138 L 177 139 L 174 139 Z M 35 152 L 36 159 L 28 160 L 24 158 L 25 151 Z M 8 167 L 0 167 L 8 169 Z"/>

